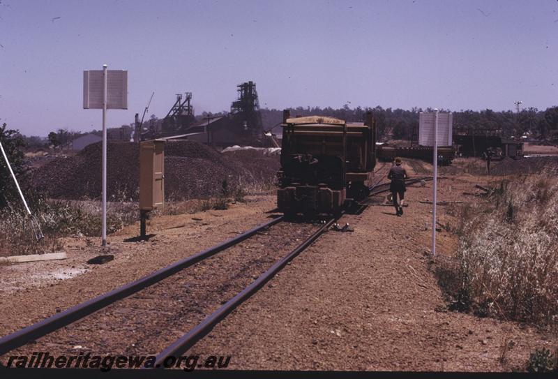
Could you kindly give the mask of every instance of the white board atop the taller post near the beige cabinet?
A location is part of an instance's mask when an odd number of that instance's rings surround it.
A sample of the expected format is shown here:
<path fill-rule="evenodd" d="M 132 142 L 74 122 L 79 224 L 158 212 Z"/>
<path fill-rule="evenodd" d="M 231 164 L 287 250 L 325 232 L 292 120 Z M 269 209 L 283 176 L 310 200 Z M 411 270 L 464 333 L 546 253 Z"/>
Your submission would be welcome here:
<path fill-rule="evenodd" d="M 84 109 L 103 109 L 103 70 L 83 72 Z M 128 109 L 128 71 L 107 70 L 107 109 Z"/>

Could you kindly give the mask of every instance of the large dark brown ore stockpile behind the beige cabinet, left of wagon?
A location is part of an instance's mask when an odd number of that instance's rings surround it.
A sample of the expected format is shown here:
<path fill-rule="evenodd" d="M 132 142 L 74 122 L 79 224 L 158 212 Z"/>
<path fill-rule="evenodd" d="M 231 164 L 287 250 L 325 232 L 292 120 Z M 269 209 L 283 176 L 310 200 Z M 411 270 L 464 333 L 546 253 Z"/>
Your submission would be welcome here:
<path fill-rule="evenodd" d="M 50 198 L 98 199 L 101 193 L 101 144 L 91 144 L 75 156 L 56 158 L 33 170 L 28 185 Z M 107 200 L 137 201 L 139 147 L 133 142 L 107 146 Z M 272 184 L 278 156 L 260 151 L 219 153 L 197 142 L 168 141 L 165 146 L 165 198 L 187 200 L 220 195 L 223 181 L 230 191 Z"/>

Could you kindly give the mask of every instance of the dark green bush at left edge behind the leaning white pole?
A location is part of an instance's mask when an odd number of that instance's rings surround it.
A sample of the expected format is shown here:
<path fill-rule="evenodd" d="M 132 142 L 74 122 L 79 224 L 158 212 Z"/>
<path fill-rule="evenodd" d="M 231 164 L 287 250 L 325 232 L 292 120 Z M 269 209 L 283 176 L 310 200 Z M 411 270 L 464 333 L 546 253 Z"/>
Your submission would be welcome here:
<path fill-rule="evenodd" d="M 8 129 L 6 123 L 0 128 L 0 143 L 16 177 L 24 172 L 23 148 L 24 140 L 19 131 Z M 0 157 L 0 209 L 6 207 L 10 200 L 17 197 L 17 189 L 13 183 L 13 178 L 8 170 L 8 165 L 3 156 Z"/>

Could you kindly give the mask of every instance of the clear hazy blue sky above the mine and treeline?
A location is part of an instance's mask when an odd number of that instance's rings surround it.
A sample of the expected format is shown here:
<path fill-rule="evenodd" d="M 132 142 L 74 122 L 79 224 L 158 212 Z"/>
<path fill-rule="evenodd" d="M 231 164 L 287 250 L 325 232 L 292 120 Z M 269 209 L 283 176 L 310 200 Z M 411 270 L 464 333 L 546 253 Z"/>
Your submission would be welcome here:
<path fill-rule="evenodd" d="M 558 105 L 558 1 L 26 1 L 0 3 L 0 121 L 26 135 L 100 128 L 82 71 L 128 70 L 133 121 L 193 92 L 228 110 L 255 81 L 262 107 Z"/>

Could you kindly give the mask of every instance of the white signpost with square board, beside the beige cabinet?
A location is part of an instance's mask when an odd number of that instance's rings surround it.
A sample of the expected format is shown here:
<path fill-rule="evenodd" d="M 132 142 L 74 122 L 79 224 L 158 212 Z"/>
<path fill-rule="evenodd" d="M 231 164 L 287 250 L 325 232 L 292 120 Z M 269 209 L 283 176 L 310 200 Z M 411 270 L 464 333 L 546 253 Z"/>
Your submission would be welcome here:
<path fill-rule="evenodd" d="M 107 110 L 128 109 L 128 71 L 85 70 L 83 72 L 84 109 L 103 110 L 103 232 L 102 244 L 107 245 Z"/>

